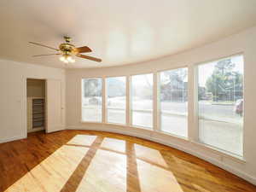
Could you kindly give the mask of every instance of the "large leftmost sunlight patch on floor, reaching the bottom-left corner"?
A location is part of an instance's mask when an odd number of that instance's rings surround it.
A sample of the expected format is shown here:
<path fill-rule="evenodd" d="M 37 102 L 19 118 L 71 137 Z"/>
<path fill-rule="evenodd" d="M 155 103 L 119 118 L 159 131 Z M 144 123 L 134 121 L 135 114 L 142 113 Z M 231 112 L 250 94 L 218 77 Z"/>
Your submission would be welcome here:
<path fill-rule="evenodd" d="M 88 148 L 63 145 L 5 192 L 59 192 Z"/>

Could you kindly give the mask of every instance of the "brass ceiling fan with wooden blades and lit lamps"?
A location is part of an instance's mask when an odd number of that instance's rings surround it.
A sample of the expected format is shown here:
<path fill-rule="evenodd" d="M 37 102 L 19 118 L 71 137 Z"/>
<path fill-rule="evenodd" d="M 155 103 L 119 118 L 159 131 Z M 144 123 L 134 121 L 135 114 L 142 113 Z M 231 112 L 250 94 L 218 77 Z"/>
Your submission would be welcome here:
<path fill-rule="evenodd" d="M 54 49 L 54 50 L 58 51 L 58 53 L 55 53 L 55 54 L 44 54 L 44 55 L 33 55 L 33 56 L 61 55 L 60 60 L 65 63 L 75 62 L 75 59 L 73 58 L 74 56 L 78 56 L 80 58 L 88 59 L 91 61 L 97 61 L 97 62 L 102 61 L 101 59 L 98 59 L 96 57 L 92 57 L 92 56 L 88 56 L 88 55 L 81 55 L 81 53 L 91 52 L 91 49 L 89 47 L 84 46 L 84 47 L 76 48 L 73 44 L 70 44 L 71 38 L 65 36 L 64 39 L 65 39 L 66 43 L 60 44 L 59 49 L 55 49 L 55 48 L 49 47 L 47 45 L 38 44 L 38 43 L 34 43 L 34 42 L 29 42 L 29 44 L 36 44 L 36 45 L 39 45 L 42 47 L 46 47 L 46 48 Z"/>

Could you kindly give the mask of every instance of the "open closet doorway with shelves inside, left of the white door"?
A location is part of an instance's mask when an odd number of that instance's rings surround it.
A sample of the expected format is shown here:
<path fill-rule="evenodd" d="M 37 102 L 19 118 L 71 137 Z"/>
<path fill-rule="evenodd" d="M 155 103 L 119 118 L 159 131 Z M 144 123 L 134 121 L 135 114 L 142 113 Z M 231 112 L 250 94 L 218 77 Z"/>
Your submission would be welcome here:
<path fill-rule="evenodd" d="M 45 80 L 26 79 L 27 132 L 45 131 Z"/>

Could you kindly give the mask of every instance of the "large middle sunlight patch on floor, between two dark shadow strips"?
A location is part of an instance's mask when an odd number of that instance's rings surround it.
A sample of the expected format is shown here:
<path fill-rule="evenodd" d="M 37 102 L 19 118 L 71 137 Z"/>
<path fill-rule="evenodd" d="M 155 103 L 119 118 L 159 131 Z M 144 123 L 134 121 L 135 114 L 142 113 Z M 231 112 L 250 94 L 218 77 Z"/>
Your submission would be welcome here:
<path fill-rule="evenodd" d="M 126 192 L 126 155 L 98 149 L 76 192 Z"/>

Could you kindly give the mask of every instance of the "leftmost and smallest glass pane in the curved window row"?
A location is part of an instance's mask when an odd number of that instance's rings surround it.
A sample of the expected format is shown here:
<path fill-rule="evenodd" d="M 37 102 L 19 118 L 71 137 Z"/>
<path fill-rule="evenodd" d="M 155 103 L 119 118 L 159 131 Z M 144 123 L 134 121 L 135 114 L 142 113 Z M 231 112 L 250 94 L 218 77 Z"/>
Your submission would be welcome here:
<path fill-rule="evenodd" d="M 102 79 L 82 79 L 82 120 L 102 122 Z"/>

